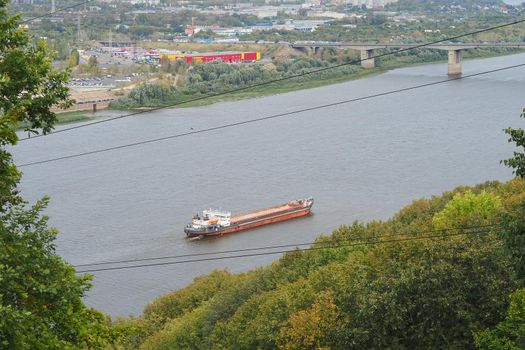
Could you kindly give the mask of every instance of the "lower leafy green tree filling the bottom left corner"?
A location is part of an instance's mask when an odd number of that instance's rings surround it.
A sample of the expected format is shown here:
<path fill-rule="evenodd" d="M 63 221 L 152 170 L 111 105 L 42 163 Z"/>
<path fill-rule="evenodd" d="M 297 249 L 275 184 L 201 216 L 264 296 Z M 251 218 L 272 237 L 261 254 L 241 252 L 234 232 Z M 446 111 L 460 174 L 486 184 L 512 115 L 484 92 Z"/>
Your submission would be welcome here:
<path fill-rule="evenodd" d="M 56 255 L 47 202 L 0 214 L 0 348 L 101 348 L 104 316 L 82 302 L 90 277 Z"/>

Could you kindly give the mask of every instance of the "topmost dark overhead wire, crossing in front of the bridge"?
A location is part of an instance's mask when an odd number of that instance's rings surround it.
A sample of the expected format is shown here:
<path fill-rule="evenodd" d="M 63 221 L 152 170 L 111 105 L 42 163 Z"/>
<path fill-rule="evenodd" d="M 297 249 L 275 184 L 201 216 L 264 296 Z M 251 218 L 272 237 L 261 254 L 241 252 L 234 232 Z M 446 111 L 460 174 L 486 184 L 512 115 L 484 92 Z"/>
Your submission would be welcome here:
<path fill-rule="evenodd" d="M 348 65 L 358 64 L 358 63 L 361 63 L 363 61 L 370 60 L 370 59 L 386 57 L 386 56 L 395 55 L 395 54 L 398 54 L 398 53 L 401 53 L 401 52 L 405 52 L 405 51 L 411 51 L 411 50 L 415 50 L 415 49 L 419 49 L 419 48 L 424 48 L 426 46 L 435 45 L 435 44 L 439 44 L 439 43 L 443 43 L 443 42 L 447 42 L 447 41 L 452 41 L 452 40 L 460 39 L 460 38 L 463 38 L 463 37 L 466 37 L 466 36 L 480 34 L 480 33 L 488 32 L 488 31 L 492 31 L 492 30 L 496 30 L 496 29 L 500 29 L 500 28 L 504 28 L 504 27 L 508 27 L 508 26 L 513 26 L 513 25 L 516 25 L 516 24 L 524 23 L 524 22 L 525 22 L 525 19 L 521 19 L 521 20 L 517 20 L 517 21 L 514 21 L 514 22 L 509 22 L 509 23 L 504 23 L 504 24 L 500 24 L 500 25 L 497 25 L 497 26 L 488 27 L 488 28 L 485 28 L 485 29 L 480 29 L 480 30 L 476 30 L 476 31 L 472 31 L 472 32 L 468 32 L 468 33 L 464 33 L 464 34 L 460 34 L 460 35 L 456 35 L 456 36 L 451 36 L 451 37 L 440 39 L 440 40 L 435 40 L 435 41 L 431 41 L 431 42 L 427 42 L 427 43 L 417 44 L 417 45 L 414 45 L 414 46 L 411 46 L 411 47 L 402 48 L 402 49 L 398 49 L 398 50 L 395 50 L 395 51 L 382 53 L 382 54 L 379 54 L 379 55 L 374 55 L 372 57 L 365 58 L 365 59 L 362 59 L 362 58 L 361 59 L 355 59 L 355 60 L 351 60 L 349 62 L 340 63 L 340 64 L 336 64 L 336 65 L 329 66 L 329 67 L 323 67 L 323 68 L 311 70 L 311 71 L 308 71 L 308 72 L 302 72 L 302 73 L 299 73 L 299 74 L 294 74 L 294 75 L 290 75 L 290 76 L 282 77 L 282 78 L 278 78 L 278 79 L 272 79 L 272 80 L 268 80 L 268 81 L 265 81 L 265 82 L 252 84 L 252 85 L 249 85 L 249 86 L 244 86 L 244 87 L 240 87 L 240 88 L 236 88 L 236 89 L 231 89 L 231 90 L 227 90 L 227 91 L 223 91 L 223 92 L 218 92 L 218 93 L 211 94 L 211 95 L 206 95 L 206 96 L 201 96 L 201 97 L 196 97 L 196 98 L 190 98 L 188 100 L 184 100 L 184 101 L 181 101 L 181 102 L 169 104 L 169 105 L 162 106 L 162 107 L 156 107 L 156 108 L 151 108 L 151 109 L 147 109 L 147 110 L 136 111 L 136 112 L 124 114 L 124 115 L 117 116 L 117 117 L 112 117 L 112 118 L 107 118 L 107 119 L 104 119 L 104 120 L 99 120 L 99 121 L 96 121 L 96 122 L 91 122 L 91 123 L 82 124 L 82 125 L 76 125 L 76 126 L 72 126 L 72 127 L 68 127 L 68 128 L 57 130 L 57 131 L 52 132 L 52 133 L 47 134 L 47 135 L 62 133 L 62 132 L 75 130 L 75 129 L 80 129 L 80 128 L 85 128 L 85 127 L 88 127 L 88 126 L 91 126 L 91 125 L 107 123 L 109 121 L 113 121 L 113 120 L 117 120 L 117 119 L 123 119 L 123 118 L 131 117 L 131 116 L 135 116 L 135 115 L 138 115 L 138 114 L 154 112 L 154 111 L 158 111 L 158 110 L 161 110 L 161 109 L 172 108 L 172 107 L 180 106 L 180 105 L 191 103 L 191 102 L 206 100 L 206 99 L 209 99 L 209 98 L 220 97 L 220 96 L 229 95 L 229 94 L 233 94 L 233 93 L 237 93 L 237 92 L 241 92 L 241 91 L 245 91 L 245 90 L 255 89 L 255 88 L 258 88 L 258 87 L 261 87 L 261 86 L 265 86 L 265 85 L 279 83 L 279 82 L 283 82 L 283 81 L 286 81 L 286 80 L 291 80 L 291 79 L 294 79 L 294 78 L 299 78 L 299 77 L 303 77 L 303 76 L 307 76 L 307 75 L 313 75 L 313 74 L 324 72 L 324 71 L 327 71 L 327 70 L 336 69 L 336 68 L 339 68 L 339 67 L 344 67 L 344 66 L 348 66 Z M 45 134 L 35 135 L 35 136 L 32 136 L 32 137 L 25 137 L 25 138 L 20 139 L 19 141 L 34 139 L 34 138 L 42 137 L 42 136 L 45 136 Z"/>

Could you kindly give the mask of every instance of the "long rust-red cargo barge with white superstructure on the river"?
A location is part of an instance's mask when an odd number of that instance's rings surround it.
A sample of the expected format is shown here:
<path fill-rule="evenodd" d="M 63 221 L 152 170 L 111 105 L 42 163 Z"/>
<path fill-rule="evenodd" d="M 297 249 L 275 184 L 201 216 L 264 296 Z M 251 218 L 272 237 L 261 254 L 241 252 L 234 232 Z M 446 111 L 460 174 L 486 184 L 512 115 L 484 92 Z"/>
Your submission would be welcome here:
<path fill-rule="evenodd" d="M 298 199 L 275 207 L 231 215 L 229 211 L 203 210 L 202 216 L 193 216 L 184 232 L 190 238 L 222 236 L 310 214 L 313 198 Z"/>

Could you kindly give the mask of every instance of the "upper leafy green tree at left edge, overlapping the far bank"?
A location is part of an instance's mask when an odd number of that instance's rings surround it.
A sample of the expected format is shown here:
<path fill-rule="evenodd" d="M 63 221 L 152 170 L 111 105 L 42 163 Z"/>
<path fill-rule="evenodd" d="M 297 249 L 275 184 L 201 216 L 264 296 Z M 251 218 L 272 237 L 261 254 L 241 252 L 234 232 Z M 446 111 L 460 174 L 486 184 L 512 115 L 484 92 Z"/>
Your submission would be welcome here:
<path fill-rule="evenodd" d="M 29 133 L 51 131 L 56 114 L 51 106 L 68 106 L 67 72 L 52 69 L 46 43 L 31 45 L 19 28 L 18 16 L 9 16 L 7 0 L 0 0 L 0 210 L 16 204 L 20 173 L 5 146 L 18 141 L 16 129 Z"/>

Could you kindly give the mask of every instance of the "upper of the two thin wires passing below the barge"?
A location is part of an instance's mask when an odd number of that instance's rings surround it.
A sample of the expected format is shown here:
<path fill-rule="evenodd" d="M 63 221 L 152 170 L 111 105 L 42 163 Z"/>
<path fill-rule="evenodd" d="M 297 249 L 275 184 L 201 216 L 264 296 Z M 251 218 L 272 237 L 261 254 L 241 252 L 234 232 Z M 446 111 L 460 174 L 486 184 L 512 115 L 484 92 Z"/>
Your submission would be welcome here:
<path fill-rule="evenodd" d="M 488 224 L 488 225 L 476 225 L 476 226 L 464 226 L 464 227 L 450 227 L 450 228 L 443 228 L 443 229 L 440 229 L 440 230 L 408 231 L 408 232 L 390 233 L 390 234 L 385 234 L 385 235 L 379 235 L 379 236 L 370 237 L 370 238 L 378 239 L 378 238 L 402 236 L 402 235 L 406 236 L 406 235 L 427 234 L 427 233 L 436 233 L 436 232 L 444 233 L 444 232 L 450 232 L 450 231 L 475 230 L 475 229 L 481 229 L 481 228 L 497 227 L 497 226 L 500 226 L 500 225 L 501 224 Z M 350 241 L 355 242 L 355 241 L 362 241 L 362 240 L 363 240 L 363 238 L 359 238 L 359 239 L 352 239 Z M 190 258 L 190 257 L 197 257 L 197 256 L 206 256 L 206 255 L 231 254 L 231 253 L 258 251 L 258 250 L 271 250 L 271 249 L 279 249 L 279 248 L 300 247 L 300 246 L 312 245 L 312 244 L 328 245 L 328 244 L 332 244 L 334 242 L 337 243 L 338 240 L 332 239 L 332 240 L 328 240 L 328 241 L 324 241 L 324 242 L 290 243 L 290 244 L 281 244 L 281 245 L 273 245 L 273 246 L 262 246 L 262 247 L 243 248 L 243 249 L 222 250 L 222 251 L 205 252 L 205 253 L 192 253 L 192 254 L 168 255 L 168 256 L 159 256 L 159 257 L 151 257 L 151 258 L 140 258 L 140 259 L 103 261 L 103 262 L 96 262 L 96 263 L 78 264 L 78 265 L 74 265 L 73 267 L 74 268 L 79 268 L 79 267 L 87 267 L 87 266 L 116 265 L 116 264 L 135 263 L 135 262 L 143 262 L 143 261 L 155 261 L 155 260 L 165 260 L 165 259 L 180 259 L 180 258 Z"/>

